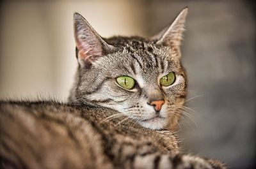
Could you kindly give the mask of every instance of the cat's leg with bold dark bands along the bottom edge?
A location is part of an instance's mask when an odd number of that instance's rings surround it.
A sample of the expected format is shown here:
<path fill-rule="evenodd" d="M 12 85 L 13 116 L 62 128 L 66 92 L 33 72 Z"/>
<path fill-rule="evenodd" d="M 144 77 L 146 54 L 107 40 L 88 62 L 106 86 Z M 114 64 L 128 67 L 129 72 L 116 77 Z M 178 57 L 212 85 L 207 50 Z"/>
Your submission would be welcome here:
<path fill-rule="evenodd" d="M 123 142 L 113 148 L 113 165 L 122 166 L 121 168 L 226 169 L 220 161 L 179 152 L 164 153 L 151 143 Z"/>

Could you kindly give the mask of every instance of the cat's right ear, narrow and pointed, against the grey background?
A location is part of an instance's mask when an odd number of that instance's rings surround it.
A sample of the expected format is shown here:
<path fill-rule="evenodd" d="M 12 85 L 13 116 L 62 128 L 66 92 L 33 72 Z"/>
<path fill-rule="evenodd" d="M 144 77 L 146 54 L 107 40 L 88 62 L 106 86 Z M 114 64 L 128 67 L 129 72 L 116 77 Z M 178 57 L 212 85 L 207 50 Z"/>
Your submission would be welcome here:
<path fill-rule="evenodd" d="M 184 10 L 180 11 L 179 15 L 170 26 L 150 38 L 150 40 L 156 41 L 156 44 L 162 44 L 169 47 L 179 47 L 187 15 L 188 8 L 184 8 Z"/>

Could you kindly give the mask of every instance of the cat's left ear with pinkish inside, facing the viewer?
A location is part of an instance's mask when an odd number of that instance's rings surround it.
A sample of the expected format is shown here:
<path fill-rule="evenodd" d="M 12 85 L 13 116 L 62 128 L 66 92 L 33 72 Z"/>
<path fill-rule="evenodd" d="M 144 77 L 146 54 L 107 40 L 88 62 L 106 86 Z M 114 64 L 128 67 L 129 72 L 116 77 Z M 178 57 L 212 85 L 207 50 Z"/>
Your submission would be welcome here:
<path fill-rule="evenodd" d="M 92 63 L 113 49 L 113 46 L 108 45 L 79 13 L 74 13 L 74 36 L 77 59 L 81 64 Z"/>

